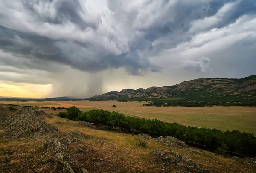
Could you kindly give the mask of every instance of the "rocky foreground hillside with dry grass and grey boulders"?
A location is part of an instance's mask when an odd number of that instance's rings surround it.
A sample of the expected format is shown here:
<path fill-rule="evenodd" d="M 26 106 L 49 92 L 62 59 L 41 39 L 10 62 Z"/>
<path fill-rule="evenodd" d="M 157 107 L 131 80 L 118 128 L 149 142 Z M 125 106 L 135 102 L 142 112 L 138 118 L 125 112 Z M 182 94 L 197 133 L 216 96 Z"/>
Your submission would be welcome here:
<path fill-rule="evenodd" d="M 8 112 L 5 105 L 0 108 L 3 108 L 0 109 L 0 115 Z M 45 111 L 47 113 L 49 110 Z M 13 113 L 14 115 L 8 114 L 4 118 L 2 122 L 4 126 L 0 123 L 0 172 L 253 173 L 255 171 L 255 159 L 225 158 L 209 151 L 188 147 L 180 141 L 177 141 L 178 146 L 173 145 L 172 137 L 149 138 L 148 147 L 142 148 L 138 146 L 139 141 L 149 136 L 132 137 L 114 130 L 84 127 L 77 121 L 56 115 L 49 116 L 40 109 L 21 108 Z M 15 117 L 20 117 L 21 121 L 33 118 L 33 121 L 20 126 L 19 120 L 13 119 Z M 8 124 L 9 120 L 13 123 Z M 54 130 L 47 130 L 49 126 L 54 127 Z M 18 131 L 20 128 L 24 133 Z"/>

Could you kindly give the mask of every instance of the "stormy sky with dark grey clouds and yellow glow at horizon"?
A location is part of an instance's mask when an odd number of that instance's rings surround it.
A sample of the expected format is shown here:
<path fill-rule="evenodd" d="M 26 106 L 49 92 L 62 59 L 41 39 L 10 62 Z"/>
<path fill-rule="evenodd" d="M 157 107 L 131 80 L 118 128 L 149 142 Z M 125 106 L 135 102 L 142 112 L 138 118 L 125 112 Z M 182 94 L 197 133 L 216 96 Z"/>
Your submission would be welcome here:
<path fill-rule="evenodd" d="M 0 96 L 256 74 L 255 0 L 0 0 Z"/>

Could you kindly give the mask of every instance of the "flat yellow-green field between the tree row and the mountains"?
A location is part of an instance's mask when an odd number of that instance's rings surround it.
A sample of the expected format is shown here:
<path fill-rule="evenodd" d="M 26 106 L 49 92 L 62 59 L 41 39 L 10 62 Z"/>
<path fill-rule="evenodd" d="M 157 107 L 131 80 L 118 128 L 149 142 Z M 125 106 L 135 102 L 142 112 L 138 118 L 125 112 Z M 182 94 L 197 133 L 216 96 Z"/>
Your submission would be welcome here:
<path fill-rule="evenodd" d="M 20 106 L 79 107 L 82 111 L 105 109 L 118 111 L 127 116 L 157 118 L 166 122 L 217 128 L 220 130 L 237 129 L 256 134 L 256 107 L 147 107 L 146 101 L 118 103 L 117 101 L 45 101 L 45 102 L 2 102 Z M 116 107 L 113 108 L 112 105 Z M 53 110 L 52 110 L 53 111 Z"/>

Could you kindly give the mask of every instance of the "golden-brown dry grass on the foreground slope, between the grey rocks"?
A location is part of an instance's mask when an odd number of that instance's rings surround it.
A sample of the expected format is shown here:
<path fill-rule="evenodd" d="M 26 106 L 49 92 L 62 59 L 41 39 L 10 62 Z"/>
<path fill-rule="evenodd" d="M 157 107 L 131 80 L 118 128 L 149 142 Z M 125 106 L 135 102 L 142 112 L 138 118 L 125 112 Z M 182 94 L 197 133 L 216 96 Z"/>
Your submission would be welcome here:
<path fill-rule="evenodd" d="M 49 110 L 46 110 L 46 112 Z M 48 112 L 50 113 L 50 112 Z M 149 141 L 148 147 L 143 149 L 138 147 L 137 141 L 131 135 L 117 133 L 114 131 L 93 130 L 81 127 L 75 121 L 67 121 L 64 118 L 54 116 L 54 118 L 44 117 L 45 121 L 55 125 L 61 131 L 66 132 L 78 129 L 87 136 L 81 141 L 86 147 L 93 147 L 93 158 L 99 160 L 99 164 L 108 170 L 120 170 L 120 172 L 161 172 L 162 166 L 153 161 L 149 153 L 152 150 L 162 149 L 166 151 L 175 151 L 183 154 L 196 164 L 204 166 L 210 172 L 244 172 L 253 173 L 253 168 L 241 164 L 233 158 L 223 158 L 216 156 L 214 153 L 204 151 L 197 152 L 190 148 L 190 151 L 166 147 L 154 144 Z M 43 164 L 38 162 L 38 153 L 42 151 L 42 144 L 47 136 L 37 140 L 23 139 L 21 141 L 9 141 L 9 139 L 0 139 L 0 172 L 35 172 Z M 103 140 L 102 142 L 97 139 Z M 40 156 L 39 156 L 40 157 Z M 89 172 L 96 172 L 96 168 L 90 165 L 87 156 L 79 163 L 86 167 Z M 168 170 L 167 170 L 168 171 Z M 169 170 L 171 171 L 171 170 Z M 175 170 L 172 170 L 176 172 Z"/>

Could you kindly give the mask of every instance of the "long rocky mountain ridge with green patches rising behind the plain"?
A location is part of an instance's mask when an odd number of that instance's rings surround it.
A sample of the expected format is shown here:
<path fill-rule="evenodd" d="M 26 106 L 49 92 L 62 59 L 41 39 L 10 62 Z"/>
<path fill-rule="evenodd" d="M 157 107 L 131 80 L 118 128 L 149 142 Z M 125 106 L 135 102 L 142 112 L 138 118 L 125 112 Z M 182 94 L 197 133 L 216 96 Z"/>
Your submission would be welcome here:
<path fill-rule="evenodd" d="M 150 87 L 147 89 L 122 89 L 102 95 L 95 95 L 89 100 L 152 100 L 186 99 L 195 101 L 241 101 L 256 100 L 256 75 L 241 79 L 200 78 L 184 81 L 173 86 Z"/>

